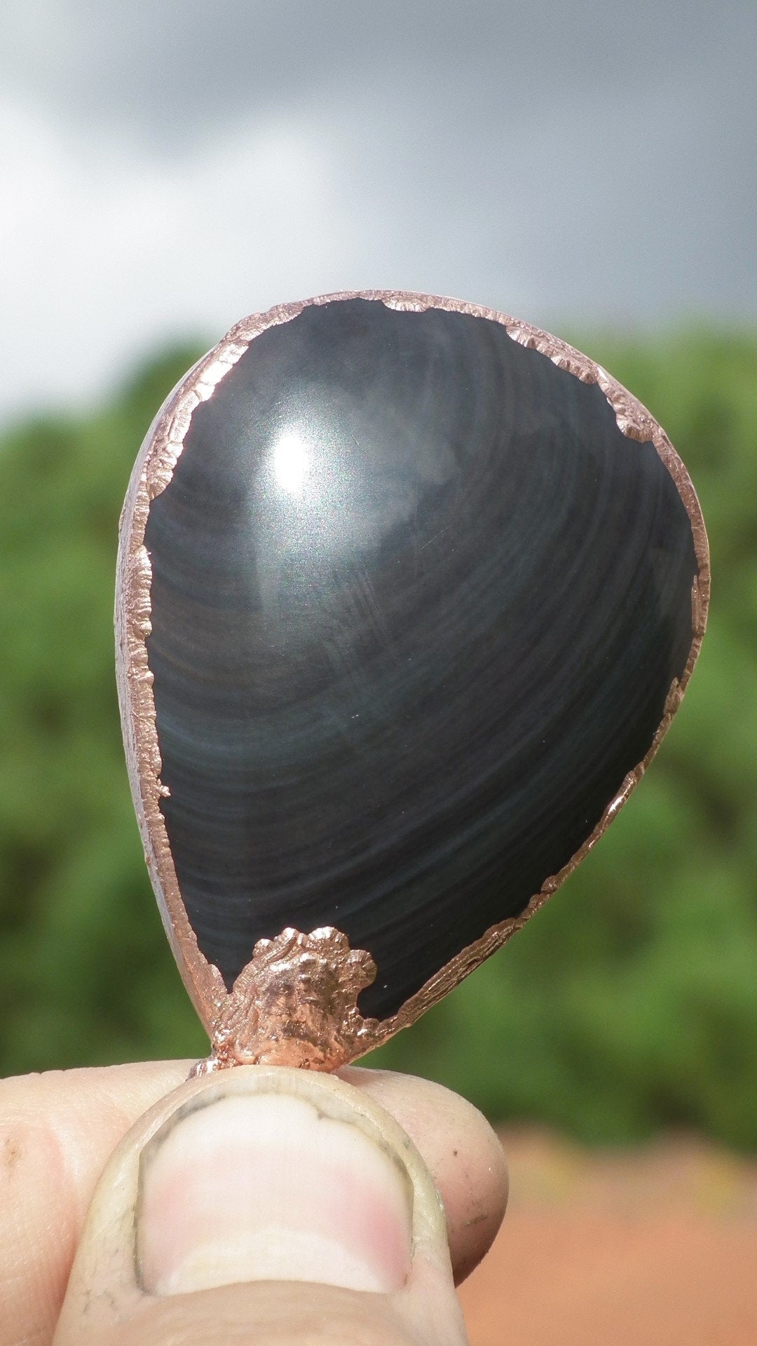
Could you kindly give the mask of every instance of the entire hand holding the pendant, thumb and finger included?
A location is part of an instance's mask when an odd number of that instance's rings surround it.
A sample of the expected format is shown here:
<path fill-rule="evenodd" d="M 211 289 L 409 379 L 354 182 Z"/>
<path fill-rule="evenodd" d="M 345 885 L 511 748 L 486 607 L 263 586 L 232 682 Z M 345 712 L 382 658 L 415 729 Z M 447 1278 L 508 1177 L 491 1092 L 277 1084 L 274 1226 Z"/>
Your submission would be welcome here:
<path fill-rule="evenodd" d="M 462 1346 L 453 1276 L 506 1202 L 481 1114 L 387 1071 L 189 1069 L 0 1082 L 0 1346 Z"/>

